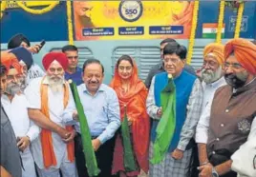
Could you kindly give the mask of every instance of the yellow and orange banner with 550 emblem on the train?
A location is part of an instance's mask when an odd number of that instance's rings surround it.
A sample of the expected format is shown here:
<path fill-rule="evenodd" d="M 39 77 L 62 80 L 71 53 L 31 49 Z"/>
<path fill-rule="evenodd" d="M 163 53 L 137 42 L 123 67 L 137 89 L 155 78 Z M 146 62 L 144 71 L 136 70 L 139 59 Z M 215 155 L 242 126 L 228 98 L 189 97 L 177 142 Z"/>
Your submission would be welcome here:
<path fill-rule="evenodd" d="M 189 38 L 194 2 L 74 1 L 76 40 Z"/>

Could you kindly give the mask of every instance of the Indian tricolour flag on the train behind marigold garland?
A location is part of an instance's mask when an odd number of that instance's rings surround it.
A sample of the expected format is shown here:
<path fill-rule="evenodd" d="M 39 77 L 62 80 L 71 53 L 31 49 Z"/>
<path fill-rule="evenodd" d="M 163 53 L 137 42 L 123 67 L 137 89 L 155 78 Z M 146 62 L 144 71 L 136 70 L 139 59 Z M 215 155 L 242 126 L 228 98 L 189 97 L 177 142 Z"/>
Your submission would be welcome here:
<path fill-rule="evenodd" d="M 224 24 L 222 29 L 222 38 L 224 38 Z M 218 24 L 203 24 L 203 38 L 216 38 L 217 35 Z"/>

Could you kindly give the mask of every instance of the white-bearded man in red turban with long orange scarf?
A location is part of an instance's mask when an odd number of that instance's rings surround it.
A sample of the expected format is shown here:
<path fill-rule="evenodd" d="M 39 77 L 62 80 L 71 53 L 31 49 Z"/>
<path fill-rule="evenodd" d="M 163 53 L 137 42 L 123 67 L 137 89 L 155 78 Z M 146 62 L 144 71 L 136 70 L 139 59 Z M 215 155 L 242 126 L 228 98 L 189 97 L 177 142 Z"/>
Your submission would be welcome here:
<path fill-rule="evenodd" d="M 29 115 L 41 129 L 32 143 L 32 153 L 42 177 L 76 177 L 74 137 L 75 130 L 67 125 L 62 113 L 73 102 L 64 72 L 68 59 L 62 52 L 50 52 L 42 61 L 46 76 L 33 79 L 25 94 L 29 100 Z M 75 112 L 70 111 L 72 117 Z M 69 117 L 69 118 L 70 118 Z"/>

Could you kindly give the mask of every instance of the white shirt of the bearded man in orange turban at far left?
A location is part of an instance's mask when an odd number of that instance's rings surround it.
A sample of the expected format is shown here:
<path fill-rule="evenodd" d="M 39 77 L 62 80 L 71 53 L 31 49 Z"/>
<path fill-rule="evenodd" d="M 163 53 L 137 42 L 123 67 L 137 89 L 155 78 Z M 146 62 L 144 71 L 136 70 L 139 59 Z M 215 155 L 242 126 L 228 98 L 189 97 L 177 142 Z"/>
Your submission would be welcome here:
<path fill-rule="evenodd" d="M 10 118 L 15 136 L 29 136 L 32 142 L 39 135 L 39 128 L 29 118 L 29 102 L 25 95 L 16 94 L 11 101 L 7 95 L 2 95 L 1 101 Z"/>

